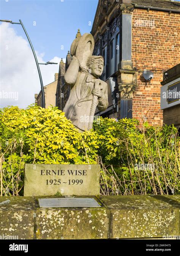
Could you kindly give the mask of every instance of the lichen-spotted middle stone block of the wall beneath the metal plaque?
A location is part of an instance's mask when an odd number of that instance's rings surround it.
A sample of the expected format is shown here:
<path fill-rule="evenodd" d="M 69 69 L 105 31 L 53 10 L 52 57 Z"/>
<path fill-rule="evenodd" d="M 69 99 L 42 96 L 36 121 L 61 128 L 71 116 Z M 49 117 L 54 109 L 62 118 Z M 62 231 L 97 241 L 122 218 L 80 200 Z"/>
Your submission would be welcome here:
<path fill-rule="evenodd" d="M 97 201 L 98 199 L 95 198 Z M 98 201 L 99 204 L 101 202 Z M 109 210 L 94 207 L 39 208 L 36 202 L 37 239 L 107 239 Z"/>

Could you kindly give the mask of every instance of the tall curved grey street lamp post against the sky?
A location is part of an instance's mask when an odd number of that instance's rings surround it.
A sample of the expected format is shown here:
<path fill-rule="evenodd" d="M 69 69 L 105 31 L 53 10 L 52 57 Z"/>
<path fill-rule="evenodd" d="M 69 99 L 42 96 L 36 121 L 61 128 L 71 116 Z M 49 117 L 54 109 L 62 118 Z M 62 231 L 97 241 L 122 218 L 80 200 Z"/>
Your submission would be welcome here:
<path fill-rule="evenodd" d="M 27 31 L 25 30 L 25 27 L 24 27 L 24 25 L 22 24 L 21 19 L 19 20 L 19 22 L 12 22 L 11 20 L 0 20 L 0 21 L 2 21 L 2 22 L 9 22 L 9 23 L 11 23 L 11 24 L 20 24 L 20 25 L 22 26 L 22 28 L 23 28 L 23 30 L 24 30 L 26 36 L 27 36 L 27 39 L 28 39 L 28 41 L 29 41 L 29 44 L 30 44 L 30 46 L 31 46 L 33 55 L 34 55 L 34 57 L 35 57 L 36 66 L 37 66 L 37 68 L 38 68 L 39 80 L 40 80 L 40 83 L 41 83 L 42 107 L 45 108 L 44 86 L 43 86 L 43 79 L 42 79 L 42 76 L 41 76 L 41 71 L 40 71 L 40 68 L 39 68 L 39 64 L 48 65 L 48 64 L 58 64 L 58 63 L 54 63 L 54 62 L 38 63 L 38 60 L 37 60 L 37 57 L 36 57 L 36 54 L 35 54 L 35 50 L 34 50 L 34 48 L 33 48 L 33 45 L 32 45 L 32 43 L 31 43 L 31 41 L 30 41 L 30 38 L 29 38 L 29 36 L 28 36 Z"/>

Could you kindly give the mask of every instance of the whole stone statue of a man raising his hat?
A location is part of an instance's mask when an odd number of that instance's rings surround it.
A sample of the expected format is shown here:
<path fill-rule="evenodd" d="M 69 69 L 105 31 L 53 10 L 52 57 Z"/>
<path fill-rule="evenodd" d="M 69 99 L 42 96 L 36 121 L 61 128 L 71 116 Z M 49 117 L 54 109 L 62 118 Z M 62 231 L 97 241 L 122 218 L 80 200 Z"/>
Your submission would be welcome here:
<path fill-rule="evenodd" d="M 92 56 L 93 49 L 91 34 L 78 36 L 71 44 L 73 57 L 65 74 L 65 82 L 71 87 L 71 92 L 63 112 L 79 132 L 92 129 L 96 107 L 104 111 L 108 106 L 107 83 L 99 79 L 104 59 Z"/>

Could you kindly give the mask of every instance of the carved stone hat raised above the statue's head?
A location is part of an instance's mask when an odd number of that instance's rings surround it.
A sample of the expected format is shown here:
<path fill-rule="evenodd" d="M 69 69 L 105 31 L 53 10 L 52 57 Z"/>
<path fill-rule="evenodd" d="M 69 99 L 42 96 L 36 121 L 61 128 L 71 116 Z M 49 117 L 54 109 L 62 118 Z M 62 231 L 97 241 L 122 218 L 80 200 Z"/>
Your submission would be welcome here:
<path fill-rule="evenodd" d="M 78 58 L 80 66 L 86 66 L 88 58 L 92 55 L 95 46 L 94 38 L 91 34 L 85 33 L 77 37 L 71 44 L 71 56 Z"/>

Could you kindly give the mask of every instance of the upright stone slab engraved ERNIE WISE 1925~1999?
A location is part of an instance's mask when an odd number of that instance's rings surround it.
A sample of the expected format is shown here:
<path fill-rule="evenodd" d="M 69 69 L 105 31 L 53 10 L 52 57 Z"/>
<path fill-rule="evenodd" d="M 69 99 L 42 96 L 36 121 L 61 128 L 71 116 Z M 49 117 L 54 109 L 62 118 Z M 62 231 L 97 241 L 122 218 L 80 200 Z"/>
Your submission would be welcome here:
<path fill-rule="evenodd" d="M 98 195 L 99 164 L 25 164 L 24 196 Z"/>

